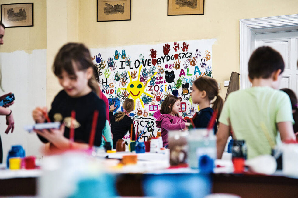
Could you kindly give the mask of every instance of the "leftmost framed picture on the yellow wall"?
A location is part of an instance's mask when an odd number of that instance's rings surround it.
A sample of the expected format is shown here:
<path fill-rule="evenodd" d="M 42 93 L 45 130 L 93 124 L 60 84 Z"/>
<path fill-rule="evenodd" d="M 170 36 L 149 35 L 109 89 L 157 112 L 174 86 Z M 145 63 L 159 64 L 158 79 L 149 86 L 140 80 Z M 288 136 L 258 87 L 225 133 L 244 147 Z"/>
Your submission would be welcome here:
<path fill-rule="evenodd" d="M 33 3 L 1 4 L 1 22 L 6 28 L 32 27 Z"/>

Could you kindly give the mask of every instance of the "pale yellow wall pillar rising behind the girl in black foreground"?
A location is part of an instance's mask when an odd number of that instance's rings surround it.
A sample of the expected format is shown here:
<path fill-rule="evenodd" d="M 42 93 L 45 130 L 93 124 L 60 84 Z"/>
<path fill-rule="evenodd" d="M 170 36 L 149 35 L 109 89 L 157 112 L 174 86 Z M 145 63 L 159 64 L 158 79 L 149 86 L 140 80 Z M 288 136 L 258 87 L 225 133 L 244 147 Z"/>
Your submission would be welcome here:
<path fill-rule="evenodd" d="M 78 42 L 78 0 L 47 0 L 47 107 L 61 90 L 52 65 L 67 42 Z"/>

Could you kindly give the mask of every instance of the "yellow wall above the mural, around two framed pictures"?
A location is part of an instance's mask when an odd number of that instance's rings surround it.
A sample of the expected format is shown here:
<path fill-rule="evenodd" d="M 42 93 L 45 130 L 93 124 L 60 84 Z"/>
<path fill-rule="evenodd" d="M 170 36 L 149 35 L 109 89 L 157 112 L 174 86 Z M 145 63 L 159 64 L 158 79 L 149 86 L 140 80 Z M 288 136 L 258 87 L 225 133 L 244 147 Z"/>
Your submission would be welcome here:
<path fill-rule="evenodd" d="M 297 0 L 205 0 L 204 15 L 167 16 L 167 0 L 132 0 L 131 21 L 96 22 L 96 0 L 79 0 L 79 42 L 90 48 L 216 38 L 213 74 L 225 97 L 239 72 L 239 20 L 298 13 Z"/>

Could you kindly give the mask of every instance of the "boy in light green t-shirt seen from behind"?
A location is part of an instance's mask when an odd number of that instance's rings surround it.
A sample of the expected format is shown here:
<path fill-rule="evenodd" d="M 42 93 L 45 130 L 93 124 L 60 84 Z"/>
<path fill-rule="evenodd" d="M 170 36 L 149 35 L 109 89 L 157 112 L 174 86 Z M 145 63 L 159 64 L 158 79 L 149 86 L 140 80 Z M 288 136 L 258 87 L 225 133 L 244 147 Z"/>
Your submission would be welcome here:
<path fill-rule="evenodd" d="M 283 142 L 296 140 L 289 96 L 277 90 L 284 67 L 282 56 L 271 47 L 259 47 L 252 53 L 248 62 L 252 87 L 232 92 L 219 118 L 218 159 L 231 130 L 234 139 L 245 140 L 248 159 L 271 154 L 278 131 Z"/>

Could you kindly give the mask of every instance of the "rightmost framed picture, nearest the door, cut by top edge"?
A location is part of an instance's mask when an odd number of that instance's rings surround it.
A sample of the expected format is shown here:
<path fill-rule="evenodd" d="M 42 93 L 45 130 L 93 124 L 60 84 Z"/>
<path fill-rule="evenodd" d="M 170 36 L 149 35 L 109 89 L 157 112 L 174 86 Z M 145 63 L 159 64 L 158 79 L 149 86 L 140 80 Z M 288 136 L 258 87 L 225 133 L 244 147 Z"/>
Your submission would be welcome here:
<path fill-rule="evenodd" d="M 204 0 L 168 0 L 168 16 L 203 14 Z"/>

